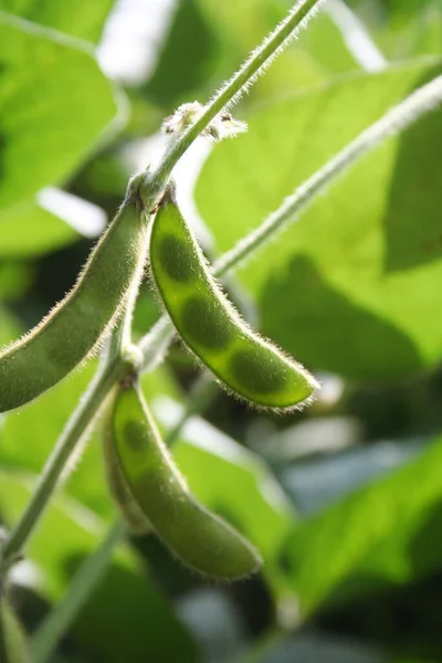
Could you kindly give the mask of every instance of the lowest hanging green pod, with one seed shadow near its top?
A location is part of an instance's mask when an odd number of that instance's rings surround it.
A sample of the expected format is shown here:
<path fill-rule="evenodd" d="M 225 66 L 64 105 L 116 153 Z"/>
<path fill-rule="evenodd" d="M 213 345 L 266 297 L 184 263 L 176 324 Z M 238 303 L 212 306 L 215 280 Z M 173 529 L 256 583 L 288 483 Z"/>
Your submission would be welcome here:
<path fill-rule="evenodd" d="M 118 393 L 113 428 L 116 454 L 134 498 L 185 565 L 224 580 L 259 569 L 261 558 L 252 545 L 189 492 L 138 387 Z"/>

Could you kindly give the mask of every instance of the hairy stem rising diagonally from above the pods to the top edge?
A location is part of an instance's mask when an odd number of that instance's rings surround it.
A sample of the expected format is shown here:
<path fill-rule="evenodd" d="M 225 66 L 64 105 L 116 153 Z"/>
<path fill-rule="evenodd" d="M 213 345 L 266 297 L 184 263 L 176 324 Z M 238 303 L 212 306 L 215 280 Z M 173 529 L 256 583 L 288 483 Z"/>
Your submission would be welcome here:
<path fill-rule="evenodd" d="M 296 39 L 299 30 L 306 27 L 322 0 L 298 0 L 286 18 L 264 39 L 233 76 L 224 83 L 206 106 L 202 115 L 169 148 L 152 179 L 166 183 L 173 166 L 182 157 L 196 138 L 224 108 L 232 107 L 242 94 L 264 73 L 287 45 Z"/>

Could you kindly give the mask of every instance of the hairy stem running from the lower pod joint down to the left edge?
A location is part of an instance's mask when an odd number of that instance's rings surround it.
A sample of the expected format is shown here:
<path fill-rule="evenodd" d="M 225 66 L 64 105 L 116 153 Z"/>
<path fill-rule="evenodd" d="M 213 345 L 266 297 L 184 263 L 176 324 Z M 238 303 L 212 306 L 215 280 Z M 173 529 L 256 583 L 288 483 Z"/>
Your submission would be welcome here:
<path fill-rule="evenodd" d="M 126 370 L 127 367 L 123 361 L 110 361 L 104 365 L 91 382 L 40 474 L 30 502 L 2 548 L 0 579 L 20 557 L 21 550 L 48 506 L 72 453 L 86 434 L 87 428 L 96 417 L 109 390 Z"/>

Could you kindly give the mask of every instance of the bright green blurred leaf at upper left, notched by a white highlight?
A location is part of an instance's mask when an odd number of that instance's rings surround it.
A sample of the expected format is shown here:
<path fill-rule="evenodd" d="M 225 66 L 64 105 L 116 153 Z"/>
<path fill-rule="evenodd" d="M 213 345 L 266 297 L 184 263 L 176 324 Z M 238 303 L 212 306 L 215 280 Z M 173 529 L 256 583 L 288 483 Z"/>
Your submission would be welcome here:
<path fill-rule="evenodd" d="M 0 252 L 24 254 L 75 236 L 34 197 L 75 171 L 118 106 L 92 52 L 70 38 L 0 12 Z"/>

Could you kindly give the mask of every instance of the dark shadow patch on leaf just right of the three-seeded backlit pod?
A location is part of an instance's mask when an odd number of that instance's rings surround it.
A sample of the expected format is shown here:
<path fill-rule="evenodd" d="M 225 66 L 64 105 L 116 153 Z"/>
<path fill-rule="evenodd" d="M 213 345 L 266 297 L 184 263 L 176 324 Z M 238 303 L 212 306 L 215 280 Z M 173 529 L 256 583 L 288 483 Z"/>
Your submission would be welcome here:
<path fill-rule="evenodd" d="M 309 257 L 273 275 L 260 307 L 263 333 L 309 369 L 386 380 L 422 366 L 408 336 L 334 290 Z"/>

